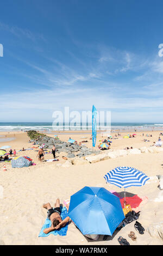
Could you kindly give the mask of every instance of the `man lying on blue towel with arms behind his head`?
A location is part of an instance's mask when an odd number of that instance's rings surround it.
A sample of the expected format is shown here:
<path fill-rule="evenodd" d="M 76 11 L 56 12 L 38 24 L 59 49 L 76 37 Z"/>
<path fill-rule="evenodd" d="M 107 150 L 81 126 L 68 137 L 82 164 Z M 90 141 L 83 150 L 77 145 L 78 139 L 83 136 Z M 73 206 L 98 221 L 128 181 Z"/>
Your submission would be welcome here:
<path fill-rule="evenodd" d="M 65 225 L 67 224 L 67 222 L 70 221 L 69 217 L 66 217 L 65 220 L 62 221 L 61 219 L 61 210 L 60 210 L 60 200 L 59 198 L 56 200 L 55 205 L 54 205 L 54 209 L 52 208 L 52 206 L 47 203 L 47 204 L 43 204 L 43 208 L 47 209 L 47 218 L 49 220 L 51 220 L 52 225 L 50 228 L 46 228 L 43 230 L 43 233 L 48 234 L 51 231 L 54 231 L 56 229 L 65 227 Z M 69 205 L 66 205 L 67 211 L 69 208 Z"/>

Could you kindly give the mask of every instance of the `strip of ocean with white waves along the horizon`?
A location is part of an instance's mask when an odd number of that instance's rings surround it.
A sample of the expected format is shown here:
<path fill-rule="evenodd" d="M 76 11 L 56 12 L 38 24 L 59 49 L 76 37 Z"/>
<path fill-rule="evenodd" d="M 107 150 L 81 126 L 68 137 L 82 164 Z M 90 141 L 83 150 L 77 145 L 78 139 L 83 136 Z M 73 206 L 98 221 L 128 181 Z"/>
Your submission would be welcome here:
<path fill-rule="evenodd" d="M 111 126 L 106 123 L 97 124 L 98 131 L 152 131 L 158 130 L 163 131 L 163 123 L 155 124 L 155 123 L 111 123 Z M 1 131 L 91 131 L 92 124 L 91 123 L 2 123 L 0 122 L 0 132 Z"/>

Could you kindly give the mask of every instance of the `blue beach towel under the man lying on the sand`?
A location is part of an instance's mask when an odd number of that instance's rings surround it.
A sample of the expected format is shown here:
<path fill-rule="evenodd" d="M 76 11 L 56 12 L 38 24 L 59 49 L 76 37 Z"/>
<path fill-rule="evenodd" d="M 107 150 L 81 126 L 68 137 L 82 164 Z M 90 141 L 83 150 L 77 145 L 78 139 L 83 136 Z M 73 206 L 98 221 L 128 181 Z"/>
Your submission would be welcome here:
<path fill-rule="evenodd" d="M 61 209 L 61 218 L 62 218 L 62 220 L 64 220 L 67 216 L 68 216 L 68 215 L 67 215 L 67 209 L 66 209 L 66 207 L 64 207 L 64 208 Z M 52 232 L 49 232 L 48 234 L 43 233 L 43 230 L 44 230 L 45 228 L 51 227 L 51 224 L 52 224 L 51 220 L 49 220 L 48 218 L 46 218 L 45 223 L 43 224 L 43 226 L 42 226 L 42 228 L 41 228 L 39 237 L 40 237 L 40 236 L 41 236 L 41 237 L 46 237 L 46 236 L 49 236 L 50 234 L 53 234 L 53 235 L 60 235 L 60 236 L 65 236 L 65 235 L 67 234 L 68 223 L 67 223 L 67 224 L 65 225 L 65 227 L 63 227 L 63 228 L 60 228 L 60 229 L 58 229 L 58 230 L 54 230 L 54 231 L 52 231 Z"/>

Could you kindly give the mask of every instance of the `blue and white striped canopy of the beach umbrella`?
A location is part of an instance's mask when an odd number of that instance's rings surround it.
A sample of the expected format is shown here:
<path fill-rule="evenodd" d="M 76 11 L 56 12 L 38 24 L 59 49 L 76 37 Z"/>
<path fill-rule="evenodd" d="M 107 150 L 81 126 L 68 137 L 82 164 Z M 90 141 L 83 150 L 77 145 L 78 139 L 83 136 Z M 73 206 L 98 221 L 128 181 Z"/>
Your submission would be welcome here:
<path fill-rule="evenodd" d="M 117 187 L 143 186 L 149 180 L 148 176 L 133 167 L 116 167 L 104 175 L 106 183 Z"/>

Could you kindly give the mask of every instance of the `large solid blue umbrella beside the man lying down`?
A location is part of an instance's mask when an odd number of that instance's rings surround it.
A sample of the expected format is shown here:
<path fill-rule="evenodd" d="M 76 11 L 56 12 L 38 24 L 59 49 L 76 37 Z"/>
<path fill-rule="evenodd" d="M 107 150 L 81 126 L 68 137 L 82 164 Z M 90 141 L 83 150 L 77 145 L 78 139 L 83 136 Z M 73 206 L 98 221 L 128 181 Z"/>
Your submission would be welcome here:
<path fill-rule="evenodd" d="M 68 216 L 83 235 L 112 235 L 125 218 L 120 199 L 103 187 L 87 187 L 73 194 Z"/>

